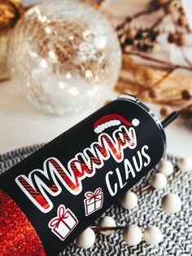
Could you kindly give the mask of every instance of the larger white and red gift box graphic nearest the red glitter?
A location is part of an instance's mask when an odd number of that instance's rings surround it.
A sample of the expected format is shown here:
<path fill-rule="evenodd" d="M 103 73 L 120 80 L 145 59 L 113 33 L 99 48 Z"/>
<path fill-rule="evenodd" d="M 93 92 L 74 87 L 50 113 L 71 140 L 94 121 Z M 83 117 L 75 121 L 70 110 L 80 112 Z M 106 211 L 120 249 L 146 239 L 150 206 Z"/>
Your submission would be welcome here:
<path fill-rule="evenodd" d="M 60 240 L 64 241 L 74 227 L 76 227 L 78 219 L 71 210 L 65 209 L 64 205 L 59 205 L 57 215 L 57 217 L 50 220 L 49 227 Z"/>

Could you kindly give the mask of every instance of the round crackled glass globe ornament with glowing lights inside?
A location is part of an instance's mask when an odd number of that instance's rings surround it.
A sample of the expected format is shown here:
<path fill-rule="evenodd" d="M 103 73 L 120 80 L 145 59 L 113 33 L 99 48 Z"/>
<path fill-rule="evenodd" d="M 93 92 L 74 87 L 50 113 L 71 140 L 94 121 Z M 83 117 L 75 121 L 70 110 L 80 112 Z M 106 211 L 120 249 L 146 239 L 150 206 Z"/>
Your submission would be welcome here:
<path fill-rule="evenodd" d="M 15 85 L 35 108 L 71 114 L 99 107 L 120 73 L 121 51 L 109 21 L 77 0 L 29 9 L 10 40 Z"/>

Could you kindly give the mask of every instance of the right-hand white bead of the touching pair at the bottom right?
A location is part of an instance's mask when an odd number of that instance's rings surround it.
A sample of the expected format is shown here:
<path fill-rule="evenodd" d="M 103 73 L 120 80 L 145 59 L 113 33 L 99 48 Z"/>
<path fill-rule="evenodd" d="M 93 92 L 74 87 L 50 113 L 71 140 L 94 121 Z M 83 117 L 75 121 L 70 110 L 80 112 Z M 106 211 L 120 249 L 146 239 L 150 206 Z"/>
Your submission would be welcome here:
<path fill-rule="evenodd" d="M 143 238 L 148 245 L 158 245 L 163 241 L 163 234 L 159 227 L 151 226 L 144 229 Z"/>

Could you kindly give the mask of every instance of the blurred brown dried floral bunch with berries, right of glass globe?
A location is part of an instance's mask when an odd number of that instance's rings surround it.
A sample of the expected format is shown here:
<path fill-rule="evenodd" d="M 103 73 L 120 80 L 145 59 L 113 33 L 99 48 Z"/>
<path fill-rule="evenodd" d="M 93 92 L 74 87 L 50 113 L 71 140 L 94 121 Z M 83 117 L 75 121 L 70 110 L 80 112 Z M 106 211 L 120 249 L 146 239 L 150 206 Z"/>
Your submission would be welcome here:
<path fill-rule="evenodd" d="M 134 29 L 132 27 L 133 20 L 142 15 L 151 15 L 151 13 L 159 10 L 164 13 L 158 15 L 158 18 L 149 28 Z M 168 33 L 167 40 L 169 43 L 180 48 L 183 60 L 185 60 L 184 64 L 174 64 L 144 53 L 153 50 L 157 44 L 159 33 L 162 33 L 159 24 L 162 24 L 164 18 L 168 16 L 172 19 L 174 32 L 166 32 L 163 29 L 163 33 Z M 115 90 L 120 93 L 137 95 L 142 100 L 156 104 L 184 106 L 186 100 L 189 102 L 192 99 L 190 75 L 173 74 L 178 68 L 192 72 L 192 61 L 185 55 L 183 49 L 185 33 L 191 33 L 188 28 L 189 24 L 179 0 L 154 0 L 151 2 L 151 7 L 124 18 L 123 22 L 116 28 L 123 52 L 123 72 Z M 148 60 L 152 68 L 149 67 L 149 64 L 137 64 L 131 55 Z M 191 108 L 186 114 L 191 117 Z"/>

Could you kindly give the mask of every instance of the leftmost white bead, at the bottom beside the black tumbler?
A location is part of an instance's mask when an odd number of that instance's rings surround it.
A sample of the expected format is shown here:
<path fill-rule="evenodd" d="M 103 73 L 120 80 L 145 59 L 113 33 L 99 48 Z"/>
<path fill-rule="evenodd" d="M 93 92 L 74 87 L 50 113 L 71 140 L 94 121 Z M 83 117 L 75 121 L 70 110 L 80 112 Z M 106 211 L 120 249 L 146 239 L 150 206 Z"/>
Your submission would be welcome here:
<path fill-rule="evenodd" d="M 90 248 L 92 245 L 94 245 L 94 242 L 95 233 L 90 227 L 86 228 L 85 231 L 76 238 L 76 245 L 84 249 Z"/>

